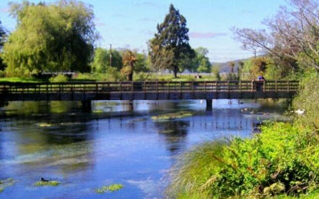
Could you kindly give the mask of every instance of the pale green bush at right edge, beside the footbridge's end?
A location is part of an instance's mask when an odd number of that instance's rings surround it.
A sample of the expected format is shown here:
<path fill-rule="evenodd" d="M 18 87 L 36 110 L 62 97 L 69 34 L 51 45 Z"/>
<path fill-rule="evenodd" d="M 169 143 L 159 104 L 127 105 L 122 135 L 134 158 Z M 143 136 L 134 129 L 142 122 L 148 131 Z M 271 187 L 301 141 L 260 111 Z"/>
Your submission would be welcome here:
<path fill-rule="evenodd" d="M 296 120 L 303 125 L 319 129 L 319 75 L 309 71 L 300 82 L 300 90 L 293 100 L 294 109 L 305 109 L 304 115 L 296 115 Z"/>

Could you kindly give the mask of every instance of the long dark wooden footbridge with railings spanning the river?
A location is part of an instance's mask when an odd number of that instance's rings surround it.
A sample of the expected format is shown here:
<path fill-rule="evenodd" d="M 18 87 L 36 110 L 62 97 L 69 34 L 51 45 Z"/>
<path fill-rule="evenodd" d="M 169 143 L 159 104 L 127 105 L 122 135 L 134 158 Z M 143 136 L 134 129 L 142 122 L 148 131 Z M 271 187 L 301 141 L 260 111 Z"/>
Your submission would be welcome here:
<path fill-rule="evenodd" d="M 8 101 L 179 100 L 292 98 L 298 81 L 67 82 L 0 83 L 0 103 Z"/>

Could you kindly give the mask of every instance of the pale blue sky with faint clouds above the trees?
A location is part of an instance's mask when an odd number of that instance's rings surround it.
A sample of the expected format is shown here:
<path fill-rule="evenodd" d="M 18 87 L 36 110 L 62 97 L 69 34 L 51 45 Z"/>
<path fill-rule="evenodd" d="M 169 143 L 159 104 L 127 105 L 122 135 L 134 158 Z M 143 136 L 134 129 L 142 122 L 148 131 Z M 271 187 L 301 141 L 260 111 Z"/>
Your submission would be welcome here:
<path fill-rule="evenodd" d="M 13 31 L 15 20 L 9 16 L 8 3 L 0 1 L 0 20 Z M 39 2 L 40 0 L 30 0 Z M 55 0 L 42 0 L 55 2 Z M 102 39 L 99 46 L 147 51 L 147 41 L 156 25 L 164 20 L 171 3 L 187 19 L 190 44 L 209 50 L 212 62 L 225 62 L 253 56 L 240 48 L 230 28 L 264 28 L 263 19 L 272 17 L 285 0 L 82 0 L 93 6 L 95 24 Z M 22 2 L 16 0 L 13 2 Z"/>

